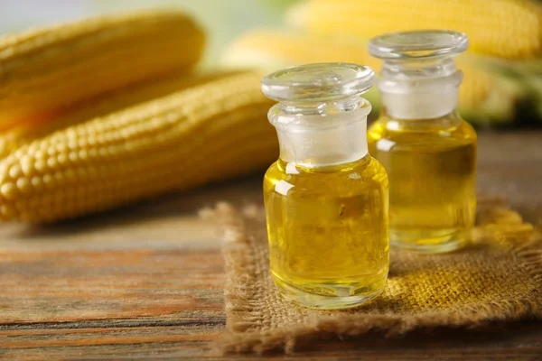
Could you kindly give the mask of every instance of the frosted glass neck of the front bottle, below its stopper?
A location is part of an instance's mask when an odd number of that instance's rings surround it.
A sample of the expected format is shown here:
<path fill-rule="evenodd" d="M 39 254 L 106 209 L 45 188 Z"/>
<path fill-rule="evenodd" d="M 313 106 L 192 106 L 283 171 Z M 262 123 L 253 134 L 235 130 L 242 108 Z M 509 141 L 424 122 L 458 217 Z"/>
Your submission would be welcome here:
<path fill-rule="evenodd" d="M 318 168 L 355 162 L 368 153 L 367 116 L 371 106 L 367 100 L 356 97 L 334 105 L 303 107 L 303 112 L 295 113 L 290 112 L 292 105 L 277 104 L 269 111 L 285 162 Z"/>

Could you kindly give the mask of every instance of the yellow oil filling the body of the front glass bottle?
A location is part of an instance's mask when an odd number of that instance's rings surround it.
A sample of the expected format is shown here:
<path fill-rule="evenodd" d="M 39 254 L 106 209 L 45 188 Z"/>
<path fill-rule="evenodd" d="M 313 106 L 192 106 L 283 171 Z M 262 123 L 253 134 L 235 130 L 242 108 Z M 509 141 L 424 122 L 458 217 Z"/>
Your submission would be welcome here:
<path fill-rule="evenodd" d="M 279 159 L 264 197 L 271 272 L 286 299 L 341 309 L 378 294 L 388 275 L 388 177 L 375 159 L 311 169 Z"/>

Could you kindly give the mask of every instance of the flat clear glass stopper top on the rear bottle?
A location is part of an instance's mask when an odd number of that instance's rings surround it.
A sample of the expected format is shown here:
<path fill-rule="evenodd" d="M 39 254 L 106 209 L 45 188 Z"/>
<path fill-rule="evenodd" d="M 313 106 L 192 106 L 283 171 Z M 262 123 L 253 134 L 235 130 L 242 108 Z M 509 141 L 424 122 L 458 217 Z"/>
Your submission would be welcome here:
<path fill-rule="evenodd" d="M 369 41 L 369 53 L 382 60 L 426 60 L 458 55 L 467 50 L 463 32 L 424 30 L 390 32 Z"/>

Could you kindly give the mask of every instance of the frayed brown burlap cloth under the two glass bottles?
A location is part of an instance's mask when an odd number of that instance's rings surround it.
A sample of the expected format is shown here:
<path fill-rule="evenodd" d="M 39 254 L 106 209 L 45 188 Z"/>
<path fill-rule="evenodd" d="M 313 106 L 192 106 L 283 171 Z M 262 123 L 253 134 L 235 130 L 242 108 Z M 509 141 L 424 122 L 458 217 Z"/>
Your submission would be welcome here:
<path fill-rule="evenodd" d="M 227 328 L 222 352 L 291 351 L 311 338 L 388 336 L 418 328 L 475 327 L 542 318 L 542 242 L 534 227 L 497 199 L 479 199 L 473 243 L 455 253 L 391 251 L 385 291 L 357 309 L 310 310 L 283 301 L 269 273 L 261 206 L 219 204 L 202 215 L 223 231 Z"/>

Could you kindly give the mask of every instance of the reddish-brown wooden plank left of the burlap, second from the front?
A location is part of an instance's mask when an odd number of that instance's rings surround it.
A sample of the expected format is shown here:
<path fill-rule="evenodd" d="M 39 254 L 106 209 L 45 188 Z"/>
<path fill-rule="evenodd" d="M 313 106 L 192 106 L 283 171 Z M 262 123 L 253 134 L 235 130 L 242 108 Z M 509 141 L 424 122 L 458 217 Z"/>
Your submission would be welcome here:
<path fill-rule="evenodd" d="M 8 251 L 0 258 L 3 323 L 222 309 L 222 261 L 215 250 Z"/>

